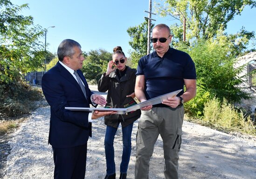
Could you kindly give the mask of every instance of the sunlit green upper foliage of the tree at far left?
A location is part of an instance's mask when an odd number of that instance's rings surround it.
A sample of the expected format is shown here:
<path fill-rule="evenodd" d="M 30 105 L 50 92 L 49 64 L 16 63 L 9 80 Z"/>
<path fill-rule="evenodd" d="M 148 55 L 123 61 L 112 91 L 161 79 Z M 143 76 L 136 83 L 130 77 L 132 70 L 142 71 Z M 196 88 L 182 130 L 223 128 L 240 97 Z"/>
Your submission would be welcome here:
<path fill-rule="evenodd" d="M 33 25 L 31 16 L 19 14 L 24 8 L 28 4 L 0 0 L 0 84 L 19 81 L 22 73 L 43 64 L 42 28 Z"/>

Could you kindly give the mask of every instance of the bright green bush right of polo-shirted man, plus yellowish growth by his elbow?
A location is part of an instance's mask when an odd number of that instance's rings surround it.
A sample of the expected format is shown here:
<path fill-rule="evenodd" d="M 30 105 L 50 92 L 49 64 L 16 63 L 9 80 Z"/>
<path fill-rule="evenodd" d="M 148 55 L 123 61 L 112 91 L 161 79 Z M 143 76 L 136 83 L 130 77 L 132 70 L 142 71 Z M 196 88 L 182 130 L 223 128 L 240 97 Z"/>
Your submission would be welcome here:
<path fill-rule="evenodd" d="M 204 103 L 214 97 L 227 99 L 229 103 L 249 98 L 239 87 L 243 82 L 243 77 L 238 76 L 242 67 L 235 69 L 235 54 L 230 53 L 230 44 L 226 40 L 208 39 L 185 50 L 194 60 L 197 73 L 197 96 L 186 103 L 190 115 L 203 115 Z"/>

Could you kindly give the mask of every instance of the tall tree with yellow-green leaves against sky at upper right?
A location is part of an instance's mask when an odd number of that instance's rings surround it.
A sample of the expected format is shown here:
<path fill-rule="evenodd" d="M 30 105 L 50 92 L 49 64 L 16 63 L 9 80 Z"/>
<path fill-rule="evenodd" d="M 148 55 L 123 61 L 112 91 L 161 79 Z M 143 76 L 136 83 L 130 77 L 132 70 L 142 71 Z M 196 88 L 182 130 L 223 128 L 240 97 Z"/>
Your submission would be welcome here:
<path fill-rule="evenodd" d="M 161 16 L 178 19 L 181 25 L 174 24 L 174 37 L 182 36 L 182 24 L 186 19 L 186 36 L 192 38 L 213 38 L 219 30 L 224 31 L 235 15 L 241 15 L 245 6 L 256 6 L 255 0 L 165 0 L 164 5 L 155 3 Z M 174 28 L 178 26 L 178 28 Z"/>

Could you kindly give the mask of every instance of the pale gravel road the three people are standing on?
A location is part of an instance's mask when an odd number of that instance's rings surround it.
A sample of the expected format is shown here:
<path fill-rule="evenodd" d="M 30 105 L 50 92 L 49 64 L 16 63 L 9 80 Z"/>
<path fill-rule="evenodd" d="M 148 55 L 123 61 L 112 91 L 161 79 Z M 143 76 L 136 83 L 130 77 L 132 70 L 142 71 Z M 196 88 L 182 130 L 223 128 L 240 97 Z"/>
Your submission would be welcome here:
<path fill-rule="evenodd" d="M 105 95 L 104 93 L 101 93 Z M 54 163 L 48 145 L 49 106 L 35 110 L 10 134 L 11 151 L 3 179 L 52 179 Z M 132 131 L 132 151 L 127 178 L 134 178 L 138 121 Z M 104 179 L 104 119 L 93 122 L 88 141 L 86 179 Z M 117 176 L 122 153 L 121 130 L 115 138 Z M 225 134 L 184 121 L 179 160 L 180 179 L 256 179 L 256 137 Z M 162 140 L 159 137 L 150 164 L 150 179 L 164 179 Z"/>

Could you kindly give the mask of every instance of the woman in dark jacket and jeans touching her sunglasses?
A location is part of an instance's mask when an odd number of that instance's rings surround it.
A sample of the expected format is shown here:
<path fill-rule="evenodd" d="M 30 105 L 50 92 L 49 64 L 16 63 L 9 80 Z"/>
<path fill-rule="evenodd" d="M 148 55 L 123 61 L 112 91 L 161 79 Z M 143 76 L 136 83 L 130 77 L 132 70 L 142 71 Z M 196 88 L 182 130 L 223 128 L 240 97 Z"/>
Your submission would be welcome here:
<path fill-rule="evenodd" d="M 107 104 L 105 108 L 128 108 L 136 104 L 134 88 L 136 69 L 126 66 L 127 58 L 120 46 L 113 49 L 112 60 L 108 63 L 107 71 L 98 81 L 98 91 L 106 92 Z M 123 134 L 123 154 L 120 164 L 120 178 L 126 179 L 128 164 L 131 156 L 131 131 L 133 122 L 140 116 L 140 110 L 132 111 L 128 115 L 107 115 L 104 123 L 107 125 L 105 133 L 105 156 L 107 174 L 105 179 L 116 179 L 114 156 L 114 138 L 121 123 Z"/>

